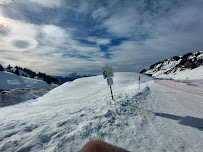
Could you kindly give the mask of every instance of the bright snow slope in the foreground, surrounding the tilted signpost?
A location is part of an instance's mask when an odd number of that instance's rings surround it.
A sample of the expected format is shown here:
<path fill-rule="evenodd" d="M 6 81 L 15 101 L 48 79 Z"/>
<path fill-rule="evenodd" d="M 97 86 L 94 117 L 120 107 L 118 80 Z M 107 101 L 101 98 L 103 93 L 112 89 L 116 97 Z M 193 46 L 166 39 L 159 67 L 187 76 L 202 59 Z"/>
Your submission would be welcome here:
<path fill-rule="evenodd" d="M 100 139 L 129 151 L 202 151 L 203 97 L 115 73 L 115 101 L 103 76 L 65 83 L 0 108 L 0 151 L 76 152 Z"/>

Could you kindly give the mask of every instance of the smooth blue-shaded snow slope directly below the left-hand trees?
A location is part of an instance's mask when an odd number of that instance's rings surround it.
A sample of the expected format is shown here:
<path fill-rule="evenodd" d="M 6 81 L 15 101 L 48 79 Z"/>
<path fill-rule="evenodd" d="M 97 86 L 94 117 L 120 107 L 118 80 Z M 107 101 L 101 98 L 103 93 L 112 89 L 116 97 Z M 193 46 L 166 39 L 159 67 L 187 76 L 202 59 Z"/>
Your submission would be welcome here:
<path fill-rule="evenodd" d="M 10 72 L 0 71 L 0 89 L 49 88 L 45 81 L 21 77 Z"/>

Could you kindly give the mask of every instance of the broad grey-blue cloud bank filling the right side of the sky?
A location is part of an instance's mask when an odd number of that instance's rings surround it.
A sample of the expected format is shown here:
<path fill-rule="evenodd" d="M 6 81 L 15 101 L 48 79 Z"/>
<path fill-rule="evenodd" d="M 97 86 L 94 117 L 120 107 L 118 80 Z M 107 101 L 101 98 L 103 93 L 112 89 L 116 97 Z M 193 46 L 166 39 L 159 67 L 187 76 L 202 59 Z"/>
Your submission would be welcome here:
<path fill-rule="evenodd" d="M 123 64 L 134 62 L 149 66 L 174 55 L 202 49 L 201 1 L 178 4 L 163 1 L 153 2 L 150 6 L 142 1 L 137 6 L 132 3 L 129 7 L 128 4 L 122 6 L 116 7 L 117 11 L 101 24 L 114 36 L 129 39 L 110 47 L 114 62 L 128 61 Z M 145 6 L 148 9 L 144 11 Z M 103 19 L 103 14 L 97 14 L 97 17 Z"/>

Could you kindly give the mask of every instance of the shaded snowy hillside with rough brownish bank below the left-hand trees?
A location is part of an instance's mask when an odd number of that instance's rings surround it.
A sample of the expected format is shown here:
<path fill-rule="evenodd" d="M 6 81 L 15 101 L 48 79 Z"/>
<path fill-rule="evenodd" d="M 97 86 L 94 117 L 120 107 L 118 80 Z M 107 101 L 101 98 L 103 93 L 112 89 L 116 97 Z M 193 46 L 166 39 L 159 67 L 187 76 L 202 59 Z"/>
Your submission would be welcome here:
<path fill-rule="evenodd" d="M 0 71 L 0 107 L 36 99 L 53 88 L 42 80 Z"/>

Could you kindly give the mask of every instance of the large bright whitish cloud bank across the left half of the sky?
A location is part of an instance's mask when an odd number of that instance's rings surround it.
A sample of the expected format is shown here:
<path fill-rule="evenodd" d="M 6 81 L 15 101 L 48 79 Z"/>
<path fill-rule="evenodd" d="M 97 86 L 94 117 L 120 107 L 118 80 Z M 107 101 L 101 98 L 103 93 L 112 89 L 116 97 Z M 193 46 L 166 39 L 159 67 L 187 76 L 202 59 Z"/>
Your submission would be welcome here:
<path fill-rule="evenodd" d="M 82 68 L 87 63 L 89 65 L 90 60 L 92 64 L 93 60 L 99 60 L 104 56 L 99 47 L 74 40 L 72 29 L 56 25 L 33 25 L 4 17 L 1 19 L 10 29 L 9 35 L 0 38 L 0 60 L 5 64 L 24 67 L 26 63 L 26 67 L 36 71 L 63 74 L 68 71 L 85 72 Z M 69 66 L 66 67 L 64 63 Z"/>

